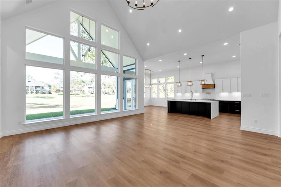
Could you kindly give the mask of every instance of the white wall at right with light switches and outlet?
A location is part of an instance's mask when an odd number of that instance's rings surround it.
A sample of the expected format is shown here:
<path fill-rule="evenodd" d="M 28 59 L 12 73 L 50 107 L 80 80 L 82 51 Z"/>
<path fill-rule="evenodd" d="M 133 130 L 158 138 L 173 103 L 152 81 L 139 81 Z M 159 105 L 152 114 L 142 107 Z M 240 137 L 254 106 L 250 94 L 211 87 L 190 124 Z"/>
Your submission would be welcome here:
<path fill-rule="evenodd" d="M 241 129 L 278 135 L 277 22 L 241 32 Z M 251 93 L 251 97 L 243 97 Z M 269 93 L 261 98 L 260 93 Z M 257 119 L 258 123 L 253 123 Z"/>

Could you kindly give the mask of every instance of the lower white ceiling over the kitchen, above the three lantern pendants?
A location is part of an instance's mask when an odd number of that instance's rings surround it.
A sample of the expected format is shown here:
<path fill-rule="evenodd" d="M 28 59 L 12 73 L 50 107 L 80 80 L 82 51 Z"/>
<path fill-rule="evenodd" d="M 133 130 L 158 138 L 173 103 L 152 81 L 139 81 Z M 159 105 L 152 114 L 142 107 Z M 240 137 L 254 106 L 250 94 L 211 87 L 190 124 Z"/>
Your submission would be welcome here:
<path fill-rule="evenodd" d="M 223 45 L 228 43 L 227 45 Z M 204 55 L 204 65 L 210 65 L 221 62 L 240 61 L 240 34 L 222 38 L 216 41 L 208 42 L 202 45 L 191 47 L 185 50 L 179 50 L 174 53 L 162 55 L 150 60 L 146 60 L 144 65 L 146 69 L 153 72 L 159 70 L 170 71 L 177 70 L 178 60 L 181 60 L 181 69 L 189 67 L 189 58 L 191 58 L 191 66 L 201 66 L 201 55 Z M 187 55 L 184 55 L 187 53 Z M 232 57 L 235 56 L 235 57 Z M 162 60 L 159 62 L 159 60 Z"/>

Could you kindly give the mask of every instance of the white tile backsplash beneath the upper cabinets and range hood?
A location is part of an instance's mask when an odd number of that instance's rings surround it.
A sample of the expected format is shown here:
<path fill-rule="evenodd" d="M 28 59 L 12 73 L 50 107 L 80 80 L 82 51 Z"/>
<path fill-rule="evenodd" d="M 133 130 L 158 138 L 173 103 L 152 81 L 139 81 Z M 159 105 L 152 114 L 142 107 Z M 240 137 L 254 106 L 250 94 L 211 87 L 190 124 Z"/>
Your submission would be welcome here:
<path fill-rule="evenodd" d="M 215 93 L 215 89 L 202 89 L 203 93 L 193 93 L 194 99 L 216 99 L 221 101 L 241 101 L 241 93 Z M 211 94 L 207 94 L 211 93 Z M 175 93 L 177 99 L 189 99 L 190 93 Z"/>

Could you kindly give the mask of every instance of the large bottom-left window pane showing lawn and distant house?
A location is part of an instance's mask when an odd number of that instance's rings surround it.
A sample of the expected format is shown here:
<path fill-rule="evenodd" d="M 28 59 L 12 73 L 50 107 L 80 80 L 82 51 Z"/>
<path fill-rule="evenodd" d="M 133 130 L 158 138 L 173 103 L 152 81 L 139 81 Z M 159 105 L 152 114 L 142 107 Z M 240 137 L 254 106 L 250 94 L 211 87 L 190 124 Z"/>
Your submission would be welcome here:
<path fill-rule="evenodd" d="M 26 66 L 26 121 L 63 117 L 63 70 Z"/>

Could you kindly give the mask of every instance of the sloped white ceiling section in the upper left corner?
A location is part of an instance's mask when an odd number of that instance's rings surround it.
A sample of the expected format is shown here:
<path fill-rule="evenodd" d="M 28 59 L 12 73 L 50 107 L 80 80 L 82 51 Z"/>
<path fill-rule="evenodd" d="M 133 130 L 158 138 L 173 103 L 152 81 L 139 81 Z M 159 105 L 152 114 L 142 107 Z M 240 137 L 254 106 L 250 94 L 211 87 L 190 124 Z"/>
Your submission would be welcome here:
<path fill-rule="evenodd" d="M 26 5 L 25 0 L 0 0 L 0 17 L 1 20 L 5 20 L 55 1 L 57 0 L 32 0 Z"/>

